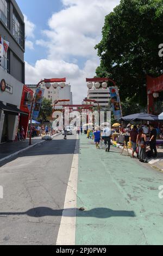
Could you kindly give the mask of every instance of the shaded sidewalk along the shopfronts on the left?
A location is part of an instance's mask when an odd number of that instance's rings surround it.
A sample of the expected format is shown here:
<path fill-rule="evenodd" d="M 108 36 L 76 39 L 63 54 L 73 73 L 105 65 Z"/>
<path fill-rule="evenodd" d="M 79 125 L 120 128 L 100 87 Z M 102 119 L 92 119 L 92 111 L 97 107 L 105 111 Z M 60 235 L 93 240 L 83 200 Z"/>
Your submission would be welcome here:
<path fill-rule="evenodd" d="M 60 133 L 57 133 L 59 135 Z M 53 135 L 53 137 L 57 136 Z M 41 137 L 35 137 L 32 138 L 32 145 L 29 146 L 29 138 L 27 138 L 25 141 L 17 141 L 17 142 L 7 142 L 0 144 L 0 162 L 16 155 L 17 153 L 20 153 L 21 151 L 24 151 L 28 148 L 34 147 L 38 143 L 43 143 Z"/>

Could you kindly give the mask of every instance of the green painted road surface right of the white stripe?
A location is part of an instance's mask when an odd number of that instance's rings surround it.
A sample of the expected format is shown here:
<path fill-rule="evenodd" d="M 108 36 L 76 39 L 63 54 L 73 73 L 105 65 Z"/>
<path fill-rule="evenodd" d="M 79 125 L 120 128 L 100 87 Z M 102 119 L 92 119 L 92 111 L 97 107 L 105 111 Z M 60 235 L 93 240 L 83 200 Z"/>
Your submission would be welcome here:
<path fill-rule="evenodd" d="M 162 245 L 163 173 L 80 136 L 76 245 Z"/>

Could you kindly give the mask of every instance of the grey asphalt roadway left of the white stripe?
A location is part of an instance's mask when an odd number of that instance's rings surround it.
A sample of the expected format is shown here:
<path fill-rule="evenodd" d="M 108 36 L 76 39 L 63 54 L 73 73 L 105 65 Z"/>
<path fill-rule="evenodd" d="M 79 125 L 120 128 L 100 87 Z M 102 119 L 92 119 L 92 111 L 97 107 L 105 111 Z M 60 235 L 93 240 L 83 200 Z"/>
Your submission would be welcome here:
<path fill-rule="evenodd" d="M 60 135 L 1 163 L 0 245 L 55 245 L 76 135 Z"/>

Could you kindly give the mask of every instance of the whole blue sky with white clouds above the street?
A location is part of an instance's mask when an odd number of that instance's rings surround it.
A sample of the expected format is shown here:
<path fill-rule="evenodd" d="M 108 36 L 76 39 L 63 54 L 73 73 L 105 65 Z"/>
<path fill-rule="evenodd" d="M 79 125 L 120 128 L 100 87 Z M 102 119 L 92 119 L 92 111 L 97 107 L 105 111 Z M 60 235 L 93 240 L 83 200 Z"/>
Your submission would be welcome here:
<path fill-rule="evenodd" d="M 95 76 L 105 15 L 120 0 L 16 0 L 26 23 L 26 84 L 66 77 L 73 103 L 87 96 Z M 48 4 L 47 4 L 48 3 Z"/>

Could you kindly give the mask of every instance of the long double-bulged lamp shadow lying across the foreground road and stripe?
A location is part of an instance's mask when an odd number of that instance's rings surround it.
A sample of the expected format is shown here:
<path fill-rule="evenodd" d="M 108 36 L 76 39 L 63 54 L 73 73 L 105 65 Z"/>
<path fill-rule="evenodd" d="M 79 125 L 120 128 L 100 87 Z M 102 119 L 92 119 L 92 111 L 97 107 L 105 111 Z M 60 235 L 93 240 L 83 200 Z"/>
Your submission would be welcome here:
<path fill-rule="evenodd" d="M 26 212 L 0 212 L 1 216 L 9 215 L 27 215 L 30 217 L 45 217 L 45 216 L 65 216 L 65 217 L 95 217 L 95 218 L 110 218 L 110 217 L 135 217 L 134 211 L 112 210 L 109 208 L 95 208 L 91 210 L 80 211 L 76 208 L 54 210 L 47 207 L 38 207 L 30 209 Z"/>

